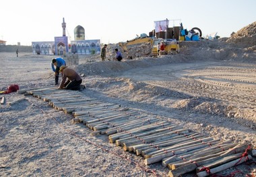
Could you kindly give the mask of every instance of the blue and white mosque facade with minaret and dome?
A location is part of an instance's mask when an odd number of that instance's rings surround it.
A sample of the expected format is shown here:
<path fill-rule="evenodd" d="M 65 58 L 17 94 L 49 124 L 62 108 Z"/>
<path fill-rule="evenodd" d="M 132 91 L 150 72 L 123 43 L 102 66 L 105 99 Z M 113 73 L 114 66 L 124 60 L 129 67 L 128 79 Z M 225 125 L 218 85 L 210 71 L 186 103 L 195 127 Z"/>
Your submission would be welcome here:
<path fill-rule="evenodd" d="M 75 40 L 68 43 L 66 36 L 66 23 L 63 17 L 63 35 L 55 36 L 54 41 L 32 42 L 34 55 L 65 55 L 77 53 L 78 55 L 100 54 L 100 40 L 85 40 L 85 32 L 82 26 L 74 29 Z"/>

